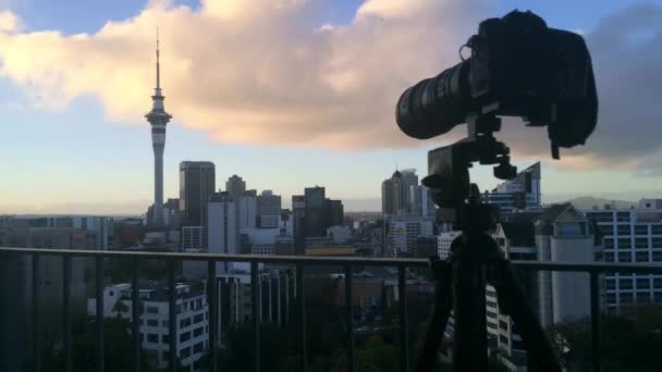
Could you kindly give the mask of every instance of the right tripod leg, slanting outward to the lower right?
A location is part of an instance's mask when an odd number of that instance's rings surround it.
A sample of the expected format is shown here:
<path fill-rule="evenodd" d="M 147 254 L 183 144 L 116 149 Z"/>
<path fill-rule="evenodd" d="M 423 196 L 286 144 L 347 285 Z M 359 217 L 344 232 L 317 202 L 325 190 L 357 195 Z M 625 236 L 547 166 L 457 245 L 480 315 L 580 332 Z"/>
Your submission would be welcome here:
<path fill-rule="evenodd" d="M 537 371 L 561 372 L 559 359 L 553 351 L 540 322 L 526 301 L 524 288 L 517 281 L 511 263 L 504 259 L 494 261 L 494 288 L 499 307 L 513 318 L 527 352 L 532 357 Z"/>

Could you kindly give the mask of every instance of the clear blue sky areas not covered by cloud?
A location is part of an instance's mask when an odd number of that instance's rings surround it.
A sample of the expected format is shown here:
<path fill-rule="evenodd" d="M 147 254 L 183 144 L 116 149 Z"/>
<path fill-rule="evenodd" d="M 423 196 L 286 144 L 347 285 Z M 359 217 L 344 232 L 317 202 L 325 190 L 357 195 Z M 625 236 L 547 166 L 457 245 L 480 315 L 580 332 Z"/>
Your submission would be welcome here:
<path fill-rule="evenodd" d="M 326 23 L 347 24 L 361 2 L 335 0 L 332 8 L 314 2 L 307 22 L 311 27 Z M 4 5 L 22 20 L 25 33 L 56 29 L 64 35 L 95 34 L 108 21 L 131 18 L 146 5 L 136 0 L 96 0 L 94 3 L 90 7 L 86 1 L 76 0 L 26 0 L 9 1 Z M 193 10 L 199 8 L 196 1 L 176 3 Z M 625 0 L 506 0 L 492 2 L 489 11 L 501 16 L 514 8 L 531 9 L 550 26 L 590 32 L 602 17 L 636 3 Z M 168 82 L 168 76 L 162 78 Z M 48 94 L 41 91 L 41 99 L 49 100 Z M 139 126 L 111 121 L 103 102 L 94 97 L 75 97 L 65 108 L 53 109 L 35 106 L 30 95 L 15 80 L 0 77 L 0 116 L 4 122 L 0 145 L 3 164 L 0 213 L 136 212 L 147 207 L 152 190 L 152 152 L 147 123 Z M 145 96 L 149 95 L 151 91 L 146 90 Z M 169 103 L 167 98 L 167 108 Z M 148 110 L 146 106 L 144 111 Z M 177 164 L 182 160 L 213 161 L 218 186 L 230 175 L 238 174 L 250 188 L 270 188 L 289 198 L 304 187 L 323 185 L 329 196 L 346 199 L 347 209 L 377 209 L 379 204 L 375 199 L 379 198 L 380 183 L 396 166 L 416 168 L 419 175 L 426 173 L 430 144 L 408 149 L 369 147 L 352 150 L 224 144 L 214 141 L 205 131 L 182 125 L 177 122 L 179 113 L 172 114 L 175 119 L 168 127 L 164 156 L 167 197 L 177 196 Z M 137 117 L 136 122 L 140 120 Z M 541 159 L 542 187 L 548 200 L 569 195 L 634 199 L 657 196 L 662 186 L 661 177 L 635 176 L 626 168 L 576 171 L 548 159 Z M 515 163 L 526 166 L 535 160 L 519 159 Z M 474 173 L 482 188 L 495 184 L 490 173 L 489 169 Z"/>

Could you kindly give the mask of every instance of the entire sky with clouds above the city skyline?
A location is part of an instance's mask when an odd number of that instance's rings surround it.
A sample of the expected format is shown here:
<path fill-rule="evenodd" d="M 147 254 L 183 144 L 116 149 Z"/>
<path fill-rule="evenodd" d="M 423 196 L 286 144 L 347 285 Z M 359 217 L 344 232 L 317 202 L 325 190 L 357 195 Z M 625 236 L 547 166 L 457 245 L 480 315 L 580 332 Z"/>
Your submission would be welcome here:
<path fill-rule="evenodd" d="M 459 61 L 478 22 L 531 10 L 580 33 L 600 110 L 586 146 L 552 161 L 547 133 L 508 121 L 522 168 L 542 161 L 543 200 L 662 197 L 662 1 L 0 0 L 0 213 L 142 213 L 152 197 L 155 38 L 168 124 L 164 195 L 183 160 L 216 164 L 289 200 L 327 187 L 346 210 L 379 210 L 396 168 L 427 151 L 394 106 Z M 491 169 L 473 171 L 483 189 Z"/>

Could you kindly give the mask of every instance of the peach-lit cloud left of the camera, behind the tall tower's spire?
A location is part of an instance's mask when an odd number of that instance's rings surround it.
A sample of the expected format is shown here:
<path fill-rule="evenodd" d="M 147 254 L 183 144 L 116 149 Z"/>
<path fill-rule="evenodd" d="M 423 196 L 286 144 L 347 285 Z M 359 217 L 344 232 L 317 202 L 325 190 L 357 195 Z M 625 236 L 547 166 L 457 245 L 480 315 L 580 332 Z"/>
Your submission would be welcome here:
<path fill-rule="evenodd" d="M 358 14 L 372 16 L 320 33 L 299 0 L 207 0 L 197 11 L 152 1 L 89 35 L 0 33 L 0 75 L 41 107 L 93 95 L 110 119 L 143 123 L 158 23 L 166 106 L 187 127 L 224 142 L 410 146 L 394 123 L 399 95 L 457 61 L 441 46 L 463 42 L 483 8 L 405 3 L 367 1 Z"/>

